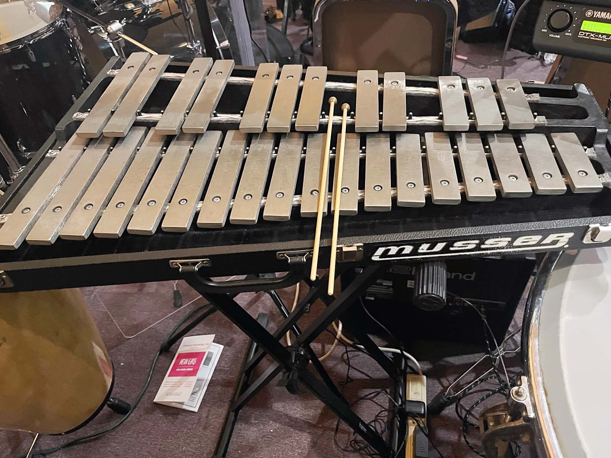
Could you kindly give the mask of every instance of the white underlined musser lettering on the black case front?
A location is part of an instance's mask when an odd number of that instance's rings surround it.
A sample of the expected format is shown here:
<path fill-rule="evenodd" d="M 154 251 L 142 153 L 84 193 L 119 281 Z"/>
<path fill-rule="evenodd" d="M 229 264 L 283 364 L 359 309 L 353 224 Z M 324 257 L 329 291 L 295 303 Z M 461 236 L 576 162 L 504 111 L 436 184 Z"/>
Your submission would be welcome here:
<path fill-rule="evenodd" d="M 395 261 L 459 256 L 464 253 L 485 254 L 514 253 L 521 251 L 552 250 L 566 247 L 575 234 L 563 232 L 549 235 L 522 235 L 518 237 L 494 237 L 487 239 L 448 242 L 422 242 L 409 245 L 379 247 L 371 256 L 372 261 Z"/>

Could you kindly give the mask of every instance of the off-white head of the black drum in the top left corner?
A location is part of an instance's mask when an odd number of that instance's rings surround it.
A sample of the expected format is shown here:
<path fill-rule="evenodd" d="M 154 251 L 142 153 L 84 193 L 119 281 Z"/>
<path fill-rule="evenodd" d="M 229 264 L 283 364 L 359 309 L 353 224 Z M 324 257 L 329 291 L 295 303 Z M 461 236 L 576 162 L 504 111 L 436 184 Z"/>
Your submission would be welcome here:
<path fill-rule="evenodd" d="M 0 3 L 0 45 L 27 37 L 52 24 L 62 13 L 62 5 L 45 1 Z"/>

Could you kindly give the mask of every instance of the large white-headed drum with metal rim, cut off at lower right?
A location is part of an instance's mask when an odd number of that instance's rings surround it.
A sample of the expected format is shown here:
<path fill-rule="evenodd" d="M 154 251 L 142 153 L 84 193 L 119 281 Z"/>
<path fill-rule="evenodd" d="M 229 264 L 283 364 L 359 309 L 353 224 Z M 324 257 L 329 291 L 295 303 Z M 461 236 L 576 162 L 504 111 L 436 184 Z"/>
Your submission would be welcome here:
<path fill-rule="evenodd" d="M 522 348 L 540 458 L 609 456 L 611 249 L 548 253 L 533 283 Z"/>

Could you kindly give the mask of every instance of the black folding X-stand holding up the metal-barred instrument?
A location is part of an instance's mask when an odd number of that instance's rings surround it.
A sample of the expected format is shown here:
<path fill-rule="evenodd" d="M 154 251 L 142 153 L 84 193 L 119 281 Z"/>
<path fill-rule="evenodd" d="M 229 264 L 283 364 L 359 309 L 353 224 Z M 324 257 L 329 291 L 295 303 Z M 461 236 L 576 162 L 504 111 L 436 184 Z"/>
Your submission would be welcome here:
<path fill-rule="evenodd" d="M 288 391 L 293 394 L 305 393 L 302 387 L 307 388 L 307 390 L 329 407 L 335 415 L 348 424 L 356 434 L 360 435 L 371 447 L 376 449 L 382 457 L 390 458 L 395 456 L 398 449 L 403 446 L 398 437 L 400 437 L 402 431 L 405 431 L 404 418 L 400 417 L 399 427 L 394 426 L 395 422 L 392 422 L 390 444 L 386 443 L 384 438 L 375 429 L 351 410 L 350 405 L 335 386 L 335 383 L 333 383 L 331 377 L 329 377 L 329 374 L 310 347 L 310 344 L 316 337 L 323 333 L 335 319 L 343 315 L 342 321 L 344 327 L 353 333 L 359 344 L 382 366 L 392 379 L 393 396 L 397 399 L 398 404 L 401 404 L 403 399 L 401 399 L 400 393 L 403 393 L 402 387 L 405 387 L 401 370 L 389 357 L 380 351 L 370 336 L 364 332 L 359 322 L 351 318 L 351 314 L 345 314 L 345 311 L 359 299 L 371 283 L 375 282 L 379 272 L 384 267 L 379 265 L 365 267 L 337 297 L 326 294 L 326 275 L 315 282 L 310 282 L 309 278 L 306 278 L 305 275 L 306 267 L 307 264 L 305 263 L 298 264 L 297 266 L 293 265 L 287 275 L 279 278 L 231 280 L 229 282 L 213 282 L 210 278 L 202 277 L 197 267 L 181 269 L 184 280 L 205 297 L 210 304 L 227 316 L 233 324 L 243 330 L 253 342 L 244 359 L 240 380 L 238 380 L 238 386 L 236 386 L 232 399 L 232 405 L 230 405 L 221 437 L 216 446 L 215 457 L 225 456 L 229 448 L 233 426 L 240 409 L 282 371 L 284 371 L 284 375 L 280 382 L 281 385 L 285 385 Z M 338 270 L 337 275 L 341 275 L 342 272 L 342 269 Z M 296 305 L 295 310 L 288 313 L 280 297 L 277 297 L 277 295 L 274 297 L 275 292 L 272 290 L 295 285 L 301 279 L 304 279 L 309 284 L 310 291 Z M 280 311 L 285 315 L 284 321 L 273 333 L 266 330 L 265 324 L 261 322 L 261 319 L 257 321 L 233 299 L 236 294 L 254 291 L 269 291 L 274 302 L 276 302 Z M 316 317 L 307 329 L 300 332 L 296 324 L 297 321 L 304 313 L 310 310 L 310 305 L 317 299 L 323 300 L 327 308 Z M 295 344 L 285 347 L 279 340 L 290 329 L 296 332 L 298 337 Z M 274 363 L 257 380 L 249 384 L 248 381 L 252 370 L 261 362 L 266 354 L 274 359 Z M 310 361 L 318 372 L 320 379 L 308 368 Z"/>

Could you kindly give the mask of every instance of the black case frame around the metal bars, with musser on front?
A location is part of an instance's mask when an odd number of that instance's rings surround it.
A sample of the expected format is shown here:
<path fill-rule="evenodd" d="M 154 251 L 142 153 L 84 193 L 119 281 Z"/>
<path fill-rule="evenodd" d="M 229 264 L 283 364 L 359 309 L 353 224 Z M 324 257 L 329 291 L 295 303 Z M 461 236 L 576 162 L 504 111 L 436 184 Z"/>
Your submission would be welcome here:
<path fill-rule="evenodd" d="M 184 72 L 187 65 L 172 63 L 167 71 Z M 86 112 L 93 106 L 112 78 L 107 75 L 107 71 L 119 66 L 116 59 L 111 60 L 68 111 L 57 125 L 55 134 L 49 137 L 48 142 L 32 157 L 26 169 L 0 198 L 2 213 L 11 213 L 20 202 L 21 197 L 53 160 L 47 157 L 48 151 L 64 144 L 75 132 L 79 122 L 73 120 L 73 114 Z M 233 76 L 254 76 L 254 73 L 253 68 L 236 67 Z M 354 73 L 329 72 L 327 81 L 354 82 L 355 76 Z M 173 92 L 172 87 L 177 84 L 178 81 L 162 79 L 142 112 L 159 112 L 164 109 Z M 437 80 L 430 77 L 408 77 L 406 85 L 437 87 Z M 595 98 L 584 85 L 571 87 L 524 83 L 522 86 L 525 93 L 540 95 L 540 98 L 533 96 L 535 101 L 531 103 L 536 104 L 539 115 L 547 117 L 547 126 L 536 126 L 529 132 L 573 131 L 583 145 L 593 148 L 596 172 L 611 172 L 609 124 Z M 246 104 L 249 90 L 247 85 L 229 84 L 217 112 L 239 113 Z M 354 92 L 327 90 L 325 100 L 332 95 L 342 102 L 347 101 L 351 106 L 356 102 Z M 327 111 L 325 105 L 323 111 Z M 440 111 L 439 100 L 435 96 L 408 93 L 408 111 L 415 115 L 437 114 Z M 560 116 L 564 119 L 558 118 Z M 137 123 L 142 125 L 142 122 Z M 237 125 L 217 123 L 213 117 L 210 128 L 227 131 L 237 128 Z M 409 126 L 408 131 L 423 134 L 441 129 L 441 126 Z M 323 128 L 319 131 L 322 132 Z M 510 131 L 505 128 L 503 132 Z M 393 139 L 394 135 L 391 134 L 391 145 Z M 300 186 L 298 182 L 297 189 L 301 189 Z M 356 258 L 348 263 L 353 266 L 378 263 L 371 258 L 380 249 L 398 247 L 398 251 L 403 252 L 401 247 L 404 245 L 411 245 L 415 249 L 415 254 L 409 256 L 410 261 L 593 247 L 596 245 L 584 244 L 584 236 L 591 224 L 611 223 L 610 193 L 610 185 L 605 183 L 599 194 L 573 194 L 567 191 L 564 195 L 533 195 L 529 198 L 499 196 L 494 202 L 467 202 L 463 198 L 460 205 L 453 206 L 433 205 L 430 198 L 427 198 L 423 208 L 404 208 L 393 204 L 392 211 L 386 213 L 367 213 L 360 204 L 357 216 L 340 218 L 338 245 L 362 244 L 359 245 L 362 259 Z M 329 224 L 323 224 L 320 268 L 327 267 L 329 258 L 331 224 L 328 221 Z M 0 271 L 4 271 L 4 275 L 12 280 L 5 282 L 0 291 L 175 280 L 181 278 L 181 274 L 176 268 L 177 264 L 170 266 L 173 260 L 206 260 L 205 267 L 201 267 L 205 277 L 286 272 L 289 270 L 288 258 L 282 253 L 296 252 L 299 256 L 302 252 L 312 250 L 314 231 L 315 218 L 302 218 L 299 211 L 293 211 L 291 220 L 287 222 L 260 219 L 253 226 L 227 224 L 219 229 L 194 227 L 186 233 L 158 230 L 152 236 L 125 233 L 119 239 L 58 239 L 50 246 L 24 243 L 15 251 L 0 252 Z M 519 236 L 537 235 L 542 236 L 543 241 L 551 234 L 558 233 L 572 233 L 573 236 L 563 245 L 538 244 L 514 250 L 509 243 L 507 249 L 500 251 L 481 247 L 483 241 L 490 238 L 510 238 L 513 241 Z M 448 247 L 461 240 L 477 240 L 480 249 L 450 254 Z M 432 255 L 417 254 L 419 244 L 431 242 L 445 243 L 445 249 Z M 611 241 L 599 245 L 610 244 Z M 386 256 L 388 253 L 389 250 L 384 251 L 384 262 L 408 260 L 401 256 Z M 9 287 L 10 283 L 12 286 Z"/>

